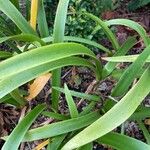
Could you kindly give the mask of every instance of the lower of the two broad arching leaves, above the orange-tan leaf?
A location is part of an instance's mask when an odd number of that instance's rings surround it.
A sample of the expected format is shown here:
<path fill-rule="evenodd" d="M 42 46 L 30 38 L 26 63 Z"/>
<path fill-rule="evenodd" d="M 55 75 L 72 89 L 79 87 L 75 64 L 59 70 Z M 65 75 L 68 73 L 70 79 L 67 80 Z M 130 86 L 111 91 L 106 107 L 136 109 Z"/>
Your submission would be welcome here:
<path fill-rule="evenodd" d="M 13 75 L 0 80 L 0 98 L 41 74 L 69 65 L 86 66 L 95 71 L 93 64 L 83 58 L 67 57 L 64 59 L 58 59 L 57 61 L 45 63 L 31 69 L 22 70 L 19 73 L 14 73 Z M 16 68 L 14 70 L 16 70 Z"/>

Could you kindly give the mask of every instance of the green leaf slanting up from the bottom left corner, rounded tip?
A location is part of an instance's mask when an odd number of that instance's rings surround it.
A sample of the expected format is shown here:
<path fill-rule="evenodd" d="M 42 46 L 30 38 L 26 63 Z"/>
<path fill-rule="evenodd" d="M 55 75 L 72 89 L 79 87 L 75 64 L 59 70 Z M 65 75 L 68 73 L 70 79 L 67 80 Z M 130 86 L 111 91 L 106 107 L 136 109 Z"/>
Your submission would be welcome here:
<path fill-rule="evenodd" d="M 27 114 L 22 121 L 15 127 L 8 139 L 6 140 L 2 150 L 12 150 L 18 149 L 19 144 L 24 138 L 27 130 L 31 124 L 35 121 L 37 116 L 43 111 L 45 105 L 38 105 L 32 111 Z"/>

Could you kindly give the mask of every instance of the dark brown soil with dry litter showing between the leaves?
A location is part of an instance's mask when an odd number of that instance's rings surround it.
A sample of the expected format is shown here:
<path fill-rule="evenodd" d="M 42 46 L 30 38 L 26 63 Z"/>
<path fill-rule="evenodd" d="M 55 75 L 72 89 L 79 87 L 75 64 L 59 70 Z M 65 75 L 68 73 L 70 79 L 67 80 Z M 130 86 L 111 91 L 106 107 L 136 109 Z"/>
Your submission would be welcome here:
<path fill-rule="evenodd" d="M 145 27 L 147 32 L 150 32 L 150 10 L 148 7 L 144 7 L 141 9 L 136 10 L 135 12 L 129 12 L 127 11 L 125 5 L 127 5 L 129 0 L 124 0 L 124 3 L 119 6 L 114 11 L 104 12 L 102 14 L 103 19 L 112 19 L 112 18 L 128 18 L 135 20 L 139 22 L 141 25 Z M 22 4 L 23 6 L 24 4 Z M 23 9 L 24 11 L 24 9 Z M 118 27 L 117 29 L 117 37 L 120 43 L 123 43 L 124 40 L 132 34 L 135 34 L 133 31 L 125 28 L 125 27 Z M 103 41 L 104 45 L 107 45 L 108 47 L 110 45 L 109 42 Z M 130 54 L 137 54 L 141 52 L 141 49 L 143 49 L 142 42 L 139 43 L 139 45 L 136 45 L 130 52 Z M 7 45 L 1 44 L 0 49 L 7 50 Z M 97 54 L 98 57 L 100 54 Z M 126 65 L 123 64 L 125 67 Z M 95 77 L 93 75 L 93 72 L 88 70 L 87 68 L 83 67 L 66 67 L 62 70 L 62 85 L 64 83 L 67 83 L 70 90 L 80 91 L 80 92 L 88 92 L 88 93 L 96 93 L 101 94 L 104 97 L 108 96 L 115 85 L 116 81 L 112 78 L 107 78 L 106 80 L 100 82 L 98 85 L 91 83 L 94 83 Z M 47 85 L 44 87 L 44 89 L 41 91 L 41 93 L 38 95 L 38 97 L 31 101 L 27 107 L 23 109 L 16 109 L 13 106 L 10 106 L 8 104 L 0 104 L 0 136 L 8 135 L 16 126 L 18 123 L 20 117 L 22 115 L 25 115 L 28 111 L 30 111 L 31 108 L 36 106 L 39 103 L 45 102 L 48 105 L 48 109 L 50 109 L 50 81 L 47 83 Z M 87 87 L 92 86 L 92 88 L 89 90 Z M 75 99 L 78 106 L 78 110 L 81 111 L 88 103 L 87 101 L 80 102 L 79 99 Z M 150 98 L 149 96 L 144 100 L 143 105 L 146 107 L 150 107 Z M 68 113 L 68 108 L 66 105 L 66 101 L 64 99 L 64 95 L 62 94 L 60 96 L 60 104 L 59 104 L 59 111 L 62 114 Z M 97 104 L 95 109 L 102 108 L 102 103 Z M 54 120 L 40 116 L 36 122 L 33 124 L 33 127 L 38 127 L 41 124 L 49 124 L 53 122 Z M 145 141 L 144 136 L 141 132 L 141 130 L 138 128 L 138 125 L 136 122 L 125 122 L 125 134 L 129 135 L 131 137 L 134 137 L 136 139 L 139 139 L 141 141 Z M 3 145 L 3 141 L 0 140 L 0 147 Z M 20 147 L 20 150 L 30 150 L 33 149 L 35 146 L 37 146 L 41 141 L 36 141 L 32 143 L 25 143 L 22 144 Z M 111 148 L 105 146 L 105 145 L 99 145 L 97 143 L 94 144 L 93 147 L 94 150 L 111 150 Z"/>

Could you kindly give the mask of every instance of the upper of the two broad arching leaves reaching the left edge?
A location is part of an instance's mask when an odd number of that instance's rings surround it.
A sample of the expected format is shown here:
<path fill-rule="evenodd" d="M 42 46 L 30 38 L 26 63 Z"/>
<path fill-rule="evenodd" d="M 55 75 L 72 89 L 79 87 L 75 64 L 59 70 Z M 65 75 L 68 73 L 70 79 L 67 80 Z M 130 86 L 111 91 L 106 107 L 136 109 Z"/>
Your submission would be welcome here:
<path fill-rule="evenodd" d="M 0 63 L 0 79 L 40 66 L 42 64 L 74 55 L 87 55 L 96 59 L 88 48 L 75 43 L 51 44 L 16 55 Z"/>

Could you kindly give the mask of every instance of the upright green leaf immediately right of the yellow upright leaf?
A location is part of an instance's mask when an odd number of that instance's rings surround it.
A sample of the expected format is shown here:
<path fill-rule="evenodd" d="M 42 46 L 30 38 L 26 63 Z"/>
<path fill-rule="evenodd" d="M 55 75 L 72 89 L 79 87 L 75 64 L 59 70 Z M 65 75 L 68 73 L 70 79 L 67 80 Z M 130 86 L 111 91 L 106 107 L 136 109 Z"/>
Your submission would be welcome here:
<path fill-rule="evenodd" d="M 44 10 L 43 0 L 39 0 L 39 8 L 38 8 L 38 29 L 40 31 L 41 37 L 48 37 L 48 25 L 46 20 L 46 14 Z"/>

